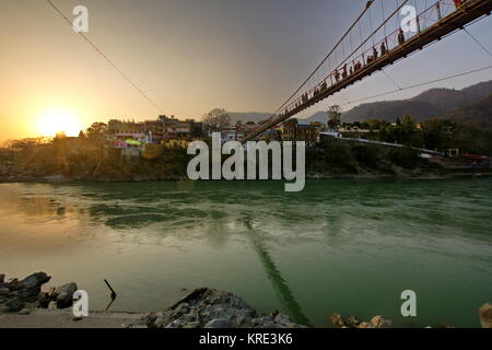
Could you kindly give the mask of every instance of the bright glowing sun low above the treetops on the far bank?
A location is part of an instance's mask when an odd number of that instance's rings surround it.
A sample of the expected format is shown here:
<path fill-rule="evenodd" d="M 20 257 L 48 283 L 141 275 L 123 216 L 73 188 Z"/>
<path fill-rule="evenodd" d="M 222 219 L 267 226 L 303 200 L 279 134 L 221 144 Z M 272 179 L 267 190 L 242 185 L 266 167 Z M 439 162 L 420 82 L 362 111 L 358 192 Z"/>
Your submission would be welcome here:
<path fill-rule="evenodd" d="M 79 119 L 67 110 L 48 110 L 37 118 L 37 131 L 45 137 L 54 137 L 61 131 L 66 136 L 78 136 L 81 129 Z"/>

